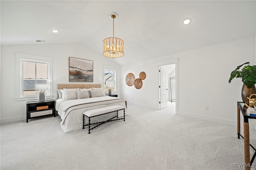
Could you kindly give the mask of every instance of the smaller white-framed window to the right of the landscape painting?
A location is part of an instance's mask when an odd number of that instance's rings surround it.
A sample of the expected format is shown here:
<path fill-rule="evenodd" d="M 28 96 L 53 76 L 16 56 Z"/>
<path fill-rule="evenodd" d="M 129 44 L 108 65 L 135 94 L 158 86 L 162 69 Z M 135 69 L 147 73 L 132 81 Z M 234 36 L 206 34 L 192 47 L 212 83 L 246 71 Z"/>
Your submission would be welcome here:
<path fill-rule="evenodd" d="M 104 68 L 104 90 L 116 91 L 116 70 Z"/>

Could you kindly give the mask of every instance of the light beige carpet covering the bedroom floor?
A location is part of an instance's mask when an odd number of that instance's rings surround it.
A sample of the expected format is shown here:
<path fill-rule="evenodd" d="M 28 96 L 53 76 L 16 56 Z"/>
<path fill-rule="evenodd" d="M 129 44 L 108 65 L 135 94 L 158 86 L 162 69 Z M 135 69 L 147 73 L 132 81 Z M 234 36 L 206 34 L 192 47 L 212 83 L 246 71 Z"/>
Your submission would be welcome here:
<path fill-rule="evenodd" d="M 0 168 L 244 169 L 231 166 L 244 162 L 244 141 L 236 127 L 175 115 L 174 103 L 160 111 L 128 105 L 125 122 L 106 123 L 91 134 L 87 128 L 64 133 L 60 117 L 2 124 Z M 250 138 L 256 146 L 254 130 Z"/>

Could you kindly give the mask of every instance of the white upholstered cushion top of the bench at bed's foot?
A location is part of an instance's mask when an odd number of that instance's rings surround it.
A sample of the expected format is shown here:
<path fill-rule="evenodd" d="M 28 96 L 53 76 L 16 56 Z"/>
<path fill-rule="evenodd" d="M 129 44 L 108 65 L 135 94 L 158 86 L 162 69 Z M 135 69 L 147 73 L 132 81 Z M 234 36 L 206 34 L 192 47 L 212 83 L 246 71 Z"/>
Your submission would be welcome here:
<path fill-rule="evenodd" d="M 118 111 L 121 109 L 124 109 L 124 107 L 119 106 L 119 105 L 114 105 L 114 106 L 107 106 L 107 107 L 92 109 L 92 110 L 84 112 L 83 114 L 86 115 L 87 117 L 93 117 L 93 116 L 101 115 L 103 113 L 114 112 L 114 111 Z"/>

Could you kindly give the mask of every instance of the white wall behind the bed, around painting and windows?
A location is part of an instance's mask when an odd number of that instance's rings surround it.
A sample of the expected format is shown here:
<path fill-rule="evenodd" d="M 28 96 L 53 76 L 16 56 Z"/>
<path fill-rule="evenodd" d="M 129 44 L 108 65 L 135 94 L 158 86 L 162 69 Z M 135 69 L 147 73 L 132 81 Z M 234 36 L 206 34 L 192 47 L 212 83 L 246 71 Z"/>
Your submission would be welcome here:
<path fill-rule="evenodd" d="M 93 83 L 103 84 L 103 65 L 120 66 L 112 59 L 103 57 L 82 43 L 41 44 L 41 45 L 2 45 L 1 46 L 1 123 L 26 119 L 26 102 L 16 101 L 16 55 L 23 53 L 53 58 L 53 95 L 57 98 L 57 84 L 69 83 L 68 57 L 93 61 Z M 118 79 L 120 75 L 117 74 Z M 78 83 L 78 82 L 70 82 Z M 81 83 L 81 82 L 80 82 Z M 118 82 L 117 89 L 120 89 Z"/>

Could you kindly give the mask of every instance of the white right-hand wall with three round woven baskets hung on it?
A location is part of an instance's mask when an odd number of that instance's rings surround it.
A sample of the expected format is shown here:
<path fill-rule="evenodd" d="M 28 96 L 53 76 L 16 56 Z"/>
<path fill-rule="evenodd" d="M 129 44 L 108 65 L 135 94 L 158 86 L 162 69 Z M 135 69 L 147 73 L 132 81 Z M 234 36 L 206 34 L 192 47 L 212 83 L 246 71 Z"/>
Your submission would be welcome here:
<path fill-rule="evenodd" d="M 158 108 L 156 63 L 178 58 L 178 114 L 236 124 L 236 102 L 242 101 L 242 81 L 228 79 L 236 66 L 255 63 L 255 37 L 222 43 L 121 67 L 122 97 L 128 103 Z M 128 73 L 147 75 L 141 89 L 125 83 Z M 133 100 L 132 100 L 133 97 Z M 205 110 L 205 106 L 209 110 Z"/>

